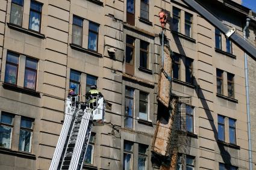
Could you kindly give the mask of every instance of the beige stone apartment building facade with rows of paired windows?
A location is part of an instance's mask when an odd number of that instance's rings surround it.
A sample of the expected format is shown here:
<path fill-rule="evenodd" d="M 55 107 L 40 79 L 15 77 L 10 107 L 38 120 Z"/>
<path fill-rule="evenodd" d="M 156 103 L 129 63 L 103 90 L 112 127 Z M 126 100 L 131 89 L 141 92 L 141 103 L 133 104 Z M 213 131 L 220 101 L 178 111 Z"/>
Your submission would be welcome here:
<path fill-rule="evenodd" d="M 249 9 L 240 1 L 199 2 L 242 32 Z M 243 51 L 180 0 L 0 0 L 0 169 L 48 169 L 69 86 L 85 101 L 94 84 L 106 122 L 93 127 L 83 168 L 159 169 L 161 10 L 172 93 L 192 101 L 190 150 L 177 167 L 248 169 Z"/>

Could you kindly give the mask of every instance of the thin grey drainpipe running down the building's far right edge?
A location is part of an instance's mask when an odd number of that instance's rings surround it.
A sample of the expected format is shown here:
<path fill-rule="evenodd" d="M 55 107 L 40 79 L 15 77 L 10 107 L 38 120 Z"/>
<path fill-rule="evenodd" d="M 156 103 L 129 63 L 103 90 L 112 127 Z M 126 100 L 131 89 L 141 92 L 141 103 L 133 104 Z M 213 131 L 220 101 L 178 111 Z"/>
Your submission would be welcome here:
<path fill-rule="evenodd" d="M 246 39 L 246 29 L 248 29 L 251 19 L 246 19 L 246 26 L 243 28 L 243 38 Z M 252 170 L 252 139 L 251 139 L 251 115 L 249 107 L 249 82 L 248 82 L 248 67 L 247 67 L 247 54 L 245 55 L 245 90 L 246 90 L 246 114 L 247 114 L 247 127 L 248 127 L 248 145 L 249 145 L 249 170 Z"/>

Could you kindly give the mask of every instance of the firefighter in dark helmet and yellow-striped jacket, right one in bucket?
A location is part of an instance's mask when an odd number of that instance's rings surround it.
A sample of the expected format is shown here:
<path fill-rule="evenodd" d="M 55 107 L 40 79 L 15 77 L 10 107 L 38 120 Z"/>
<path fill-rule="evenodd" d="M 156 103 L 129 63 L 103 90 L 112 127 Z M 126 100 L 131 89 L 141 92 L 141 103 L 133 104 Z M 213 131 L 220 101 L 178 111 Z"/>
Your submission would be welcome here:
<path fill-rule="evenodd" d="M 90 87 L 90 90 L 87 91 L 87 93 L 86 93 L 86 99 L 87 99 L 87 101 L 89 101 L 90 108 L 93 109 L 93 106 L 97 106 L 97 102 L 98 102 L 99 98 L 101 98 L 101 97 L 103 97 L 103 95 L 97 89 L 97 86 L 92 85 Z M 93 105 L 93 103 L 94 103 L 94 105 Z"/>

